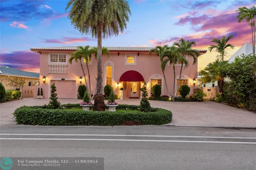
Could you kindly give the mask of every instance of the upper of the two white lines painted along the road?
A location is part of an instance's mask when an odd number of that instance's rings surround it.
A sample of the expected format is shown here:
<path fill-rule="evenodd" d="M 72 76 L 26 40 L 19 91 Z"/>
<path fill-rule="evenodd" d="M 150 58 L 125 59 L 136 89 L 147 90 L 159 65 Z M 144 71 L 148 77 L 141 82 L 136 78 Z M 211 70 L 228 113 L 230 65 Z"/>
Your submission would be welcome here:
<path fill-rule="evenodd" d="M 133 136 L 133 137 L 185 137 L 185 138 L 223 138 L 223 139 L 256 139 L 256 137 L 224 136 L 168 136 L 168 135 L 104 135 L 104 134 L 0 134 L 0 135 L 35 135 L 35 136 Z"/>

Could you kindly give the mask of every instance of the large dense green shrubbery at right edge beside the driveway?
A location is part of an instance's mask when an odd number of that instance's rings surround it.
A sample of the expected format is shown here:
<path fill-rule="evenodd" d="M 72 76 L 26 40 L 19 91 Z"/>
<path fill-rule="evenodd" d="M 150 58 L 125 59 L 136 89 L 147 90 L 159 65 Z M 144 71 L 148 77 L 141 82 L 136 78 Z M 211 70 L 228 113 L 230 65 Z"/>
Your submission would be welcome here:
<path fill-rule="evenodd" d="M 228 63 L 219 69 L 221 77 L 226 77 L 223 93 L 217 101 L 225 102 L 234 106 L 244 106 L 256 111 L 256 80 L 252 70 L 252 55 L 235 58 L 233 63 Z"/>

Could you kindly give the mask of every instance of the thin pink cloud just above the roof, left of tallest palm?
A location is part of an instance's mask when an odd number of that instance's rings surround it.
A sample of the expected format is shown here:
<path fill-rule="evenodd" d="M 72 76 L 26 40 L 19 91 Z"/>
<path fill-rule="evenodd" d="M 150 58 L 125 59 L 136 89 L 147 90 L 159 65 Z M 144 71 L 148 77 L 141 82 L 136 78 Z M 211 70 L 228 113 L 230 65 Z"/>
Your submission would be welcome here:
<path fill-rule="evenodd" d="M 72 37 L 62 37 L 61 40 L 58 39 L 45 39 L 42 43 L 61 43 L 61 44 L 72 44 L 72 43 L 81 43 L 85 41 L 94 41 L 94 39 L 88 37 L 82 38 L 72 38 Z"/>

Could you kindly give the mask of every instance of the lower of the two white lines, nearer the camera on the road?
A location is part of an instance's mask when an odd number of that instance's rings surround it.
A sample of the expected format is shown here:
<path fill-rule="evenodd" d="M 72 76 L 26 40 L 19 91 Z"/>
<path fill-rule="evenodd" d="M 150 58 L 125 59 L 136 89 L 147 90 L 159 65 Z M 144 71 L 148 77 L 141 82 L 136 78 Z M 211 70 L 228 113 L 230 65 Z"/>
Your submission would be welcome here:
<path fill-rule="evenodd" d="M 174 141 L 174 140 L 140 140 L 140 139 L 0 138 L 0 140 L 129 141 L 129 142 L 185 142 L 185 143 L 239 143 L 239 144 L 256 144 L 256 142 Z"/>

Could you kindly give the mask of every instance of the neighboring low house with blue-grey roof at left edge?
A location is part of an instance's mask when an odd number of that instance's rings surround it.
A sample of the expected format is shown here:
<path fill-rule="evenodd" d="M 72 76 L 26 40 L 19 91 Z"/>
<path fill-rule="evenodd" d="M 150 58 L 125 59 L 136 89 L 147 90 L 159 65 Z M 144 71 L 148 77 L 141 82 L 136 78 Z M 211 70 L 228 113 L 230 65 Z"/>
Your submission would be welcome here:
<path fill-rule="evenodd" d="M 12 86 L 7 85 L 9 83 L 9 81 L 7 81 L 8 78 L 25 81 L 24 85 L 26 86 L 39 85 L 39 73 L 26 72 L 15 68 L 10 68 L 8 66 L 0 66 L 0 80 L 6 90 L 13 89 Z"/>

